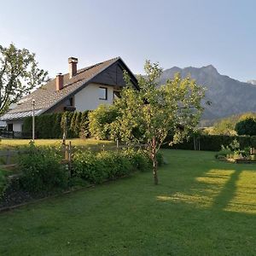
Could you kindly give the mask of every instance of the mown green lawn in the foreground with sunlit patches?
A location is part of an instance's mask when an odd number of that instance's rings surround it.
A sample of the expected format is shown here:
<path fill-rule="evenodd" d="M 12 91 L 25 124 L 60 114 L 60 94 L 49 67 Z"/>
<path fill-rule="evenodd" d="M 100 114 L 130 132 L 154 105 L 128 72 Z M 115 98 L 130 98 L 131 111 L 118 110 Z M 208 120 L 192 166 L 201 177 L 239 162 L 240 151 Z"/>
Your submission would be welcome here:
<path fill-rule="evenodd" d="M 151 173 L 0 214 L 0 255 L 256 255 L 256 166 L 163 151 Z"/>

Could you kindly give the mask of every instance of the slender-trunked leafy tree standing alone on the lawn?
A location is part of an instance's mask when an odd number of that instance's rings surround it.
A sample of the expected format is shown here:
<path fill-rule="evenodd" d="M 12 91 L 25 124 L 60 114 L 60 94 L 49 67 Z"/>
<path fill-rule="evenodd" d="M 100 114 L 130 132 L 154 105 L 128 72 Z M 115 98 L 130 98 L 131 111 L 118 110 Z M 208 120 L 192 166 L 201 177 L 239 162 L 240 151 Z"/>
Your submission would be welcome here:
<path fill-rule="evenodd" d="M 178 143 L 198 124 L 204 90 L 195 80 L 181 79 L 179 74 L 159 88 L 157 81 L 162 72 L 159 64 L 146 61 L 144 70 L 146 76 L 138 79 L 140 90 L 132 88 L 125 74 L 127 86 L 114 102 L 119 115 L 111 124 L 111 135 L 128 144 L 147 144 L 154 183 L 158 184 L 156 154 L 168 134 L 172 133 L 172 141 L 168 143 Z"/>

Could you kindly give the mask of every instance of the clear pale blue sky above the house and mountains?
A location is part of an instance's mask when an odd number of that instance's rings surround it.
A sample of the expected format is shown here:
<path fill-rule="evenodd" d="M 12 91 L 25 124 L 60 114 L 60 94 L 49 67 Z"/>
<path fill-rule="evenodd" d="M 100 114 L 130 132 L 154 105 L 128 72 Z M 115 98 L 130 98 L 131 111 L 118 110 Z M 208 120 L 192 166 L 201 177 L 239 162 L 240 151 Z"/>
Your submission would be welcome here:
<path fill-rule="evenodd" d="M 0 0 L 0 44 L 36 54 L 49 76 L 121 56 L 133 73 L 212 64 L 221 74 L 256 79 L 256 1 Z"/>

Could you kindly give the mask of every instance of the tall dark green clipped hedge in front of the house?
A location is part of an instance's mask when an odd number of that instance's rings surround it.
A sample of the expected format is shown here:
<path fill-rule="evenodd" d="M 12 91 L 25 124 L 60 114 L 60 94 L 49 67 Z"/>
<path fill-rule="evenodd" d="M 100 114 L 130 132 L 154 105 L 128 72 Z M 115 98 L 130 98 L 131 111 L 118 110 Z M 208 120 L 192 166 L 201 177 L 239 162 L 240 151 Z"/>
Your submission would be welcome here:
<path fill-rule="evenodd" d="M 89 111 L 49 113 L 35 117 L 35 133 L 37 138 L 61 138 L 63 130 L 61 126 L 67 117 L 67 137 L 88 137 L 88 113 Z M 32 133 L 32 117 L 24 119 L 23 131 Z"/>

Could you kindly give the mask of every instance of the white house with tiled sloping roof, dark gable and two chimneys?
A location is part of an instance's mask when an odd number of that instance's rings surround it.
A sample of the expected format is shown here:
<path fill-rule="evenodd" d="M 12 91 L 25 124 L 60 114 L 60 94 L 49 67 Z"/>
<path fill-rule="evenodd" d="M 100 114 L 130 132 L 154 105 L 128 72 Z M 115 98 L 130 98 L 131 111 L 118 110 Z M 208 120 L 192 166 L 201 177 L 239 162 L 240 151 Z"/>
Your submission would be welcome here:
<path fill-rule="evenodd" d="M 38 116 L 91 110 L 100 104 L 112 104 L 125 86 L 124 71 L 137 88 L 136 77 L 120 57 L 79 70 L 77 64 L 77 58 L 68 58 L 69 73 L 57 74 L 55 79 L 24 96 L 15 108 L 4 113 L 0 120 L 6 121 L 8 131 L 22 131 L 23 119 L 32 116 L 32 108 Z"/>

